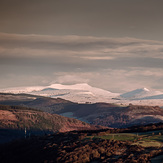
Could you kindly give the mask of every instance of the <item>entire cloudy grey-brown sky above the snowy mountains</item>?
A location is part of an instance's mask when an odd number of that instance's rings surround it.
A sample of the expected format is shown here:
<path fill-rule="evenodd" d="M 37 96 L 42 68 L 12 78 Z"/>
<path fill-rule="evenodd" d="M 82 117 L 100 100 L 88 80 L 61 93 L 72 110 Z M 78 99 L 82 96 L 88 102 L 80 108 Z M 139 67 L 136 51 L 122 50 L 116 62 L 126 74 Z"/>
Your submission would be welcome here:
<path fill-rule="evenodd" d="M 162 0 L 1 0 L 0 88 L 88 83 L 163 91 Z"/>

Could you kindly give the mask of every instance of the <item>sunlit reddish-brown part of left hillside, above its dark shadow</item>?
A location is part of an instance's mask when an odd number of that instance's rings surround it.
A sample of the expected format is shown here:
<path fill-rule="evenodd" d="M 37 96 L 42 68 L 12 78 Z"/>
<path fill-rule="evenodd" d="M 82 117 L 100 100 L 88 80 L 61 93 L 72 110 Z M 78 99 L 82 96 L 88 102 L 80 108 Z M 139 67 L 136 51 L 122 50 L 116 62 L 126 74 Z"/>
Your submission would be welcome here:
<path fill-rule="evenodd" d="M 2 129 L 36 129 L 56 131 L 71 131 L 91 128 L 89 124 L 76 119 L 49 114 L 42 111 L 20 107 L 0 105 L 0 128 Z"/>

